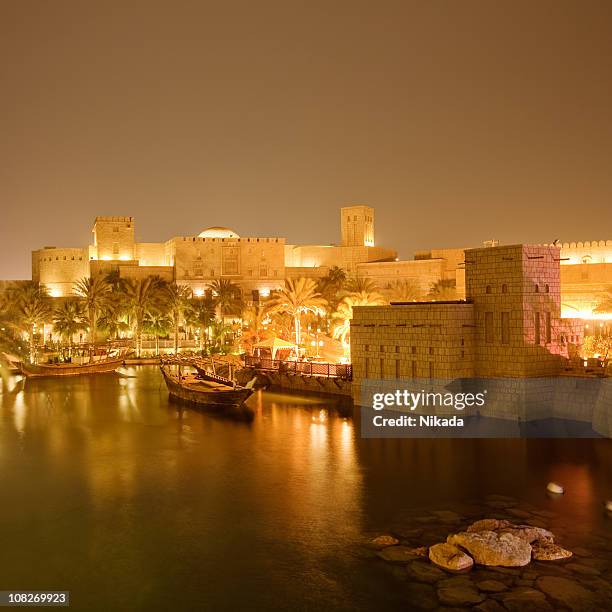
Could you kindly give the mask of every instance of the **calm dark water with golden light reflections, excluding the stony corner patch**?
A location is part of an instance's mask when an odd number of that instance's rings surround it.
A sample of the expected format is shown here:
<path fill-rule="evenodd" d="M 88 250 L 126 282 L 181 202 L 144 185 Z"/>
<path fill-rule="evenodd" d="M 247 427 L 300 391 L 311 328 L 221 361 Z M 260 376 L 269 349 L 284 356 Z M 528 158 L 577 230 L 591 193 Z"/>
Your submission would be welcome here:
<path fill-rule="evenodd" d="M 610 440 L 362 440 L 330 402 L 274 393 L 242 424 L 126 372 L 5 379 L 0 589 L 79 610 L 406 609 L 357 544 L 411 508 L 501 493 L 610 529 Z"/>

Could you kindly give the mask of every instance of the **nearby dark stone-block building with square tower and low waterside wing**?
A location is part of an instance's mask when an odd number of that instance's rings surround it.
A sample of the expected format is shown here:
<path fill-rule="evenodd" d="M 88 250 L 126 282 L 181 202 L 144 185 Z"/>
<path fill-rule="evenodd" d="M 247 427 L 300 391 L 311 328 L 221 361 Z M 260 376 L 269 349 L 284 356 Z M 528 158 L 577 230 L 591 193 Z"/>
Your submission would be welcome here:
<path fill-rule="evenodd" d="M 583 333 L 581 321 L 561 318 L 560 253 L 553 246 L 468 249 L 465 301 L 355 307 L 355 391 L 368 379 L 558 374 Z"/>

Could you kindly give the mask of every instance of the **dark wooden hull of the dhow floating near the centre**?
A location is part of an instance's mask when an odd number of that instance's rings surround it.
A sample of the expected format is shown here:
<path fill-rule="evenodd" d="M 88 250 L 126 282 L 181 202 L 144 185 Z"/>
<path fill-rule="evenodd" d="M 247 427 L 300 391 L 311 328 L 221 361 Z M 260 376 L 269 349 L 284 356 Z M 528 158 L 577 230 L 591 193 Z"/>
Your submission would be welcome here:
<path fill-rule="evenodd" d="M 240 387 L 199 390 L 190 385 L 180 384 L 176 377 L 166 373 L 163 368 L 161 372 L 172 399 L 228 416 L 249 420 L 253 418 L 253 411 L 244 405 L 244 402 L 253 394 L 253 389 Z"/>

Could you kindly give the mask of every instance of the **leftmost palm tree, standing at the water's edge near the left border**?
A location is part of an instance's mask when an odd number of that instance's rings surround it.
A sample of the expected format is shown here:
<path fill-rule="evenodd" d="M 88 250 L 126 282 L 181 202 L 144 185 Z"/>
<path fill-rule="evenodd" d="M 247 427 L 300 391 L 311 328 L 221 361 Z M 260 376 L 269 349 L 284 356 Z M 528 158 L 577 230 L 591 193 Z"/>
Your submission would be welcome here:
<path fill-rule="evenodd" d="M 47 290 L 33 281 L 16 282 L 8 290 L 11 325 L 26 332 L 30 361 L 36 361 L 36 332 L 51 315 Z"/>

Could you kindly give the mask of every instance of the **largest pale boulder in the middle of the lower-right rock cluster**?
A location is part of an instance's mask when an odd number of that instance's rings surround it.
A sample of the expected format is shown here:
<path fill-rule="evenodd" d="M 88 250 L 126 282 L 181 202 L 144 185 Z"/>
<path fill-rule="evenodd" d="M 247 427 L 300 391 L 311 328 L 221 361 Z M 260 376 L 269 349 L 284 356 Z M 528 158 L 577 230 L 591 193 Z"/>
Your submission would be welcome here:
<path fill-rule="evenodd" d="M 529 543 L 511 533 L 462 532 L 449 535 L 446 541 L 467 550 L 480 565 L 522 567 L 531 561 Z"/>

